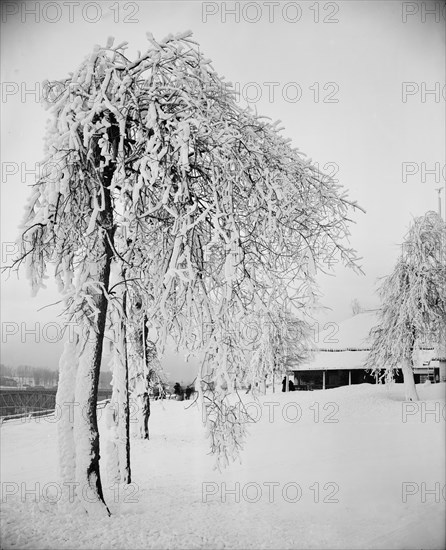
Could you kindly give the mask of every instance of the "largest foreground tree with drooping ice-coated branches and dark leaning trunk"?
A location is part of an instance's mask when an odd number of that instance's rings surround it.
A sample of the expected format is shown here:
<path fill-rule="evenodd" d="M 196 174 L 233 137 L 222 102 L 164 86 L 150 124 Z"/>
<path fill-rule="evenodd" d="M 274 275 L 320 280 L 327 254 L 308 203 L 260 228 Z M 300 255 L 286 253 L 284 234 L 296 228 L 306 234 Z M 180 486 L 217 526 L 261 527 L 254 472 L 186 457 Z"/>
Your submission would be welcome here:
<path fill-rule="evenodd" d="M 75 323 L 57 399 L 78 402 L 83 414 L 59 424 L 62 473 L 97 496 L 84 504 L 99 511 L 97 385 L 107 316 L 125 316 L 117 285 L 141 297 L 159 354 L 168 336 L 202 354 L 204 419 L 225 461 L 243 435 L 239 417 L 227 421 L 236 415 L 228 395 L 246 370 L 238 324 L 272 298 L 278 309 L 308 307 L 310 274 L 327 256 L 357 261 L 346 241 L 356 204 L 342 188 L 277 124 L 237 104 L 190 33 L 148 39 L 135 61 L 109 40 L 47 84 L 46 170 L 27 205 L 17 261 L 35 290 L 55 266 Z M 120 281 L 110 280 L 112 270 Z M 114 342 L 121 381 L 123 330 Z"/>

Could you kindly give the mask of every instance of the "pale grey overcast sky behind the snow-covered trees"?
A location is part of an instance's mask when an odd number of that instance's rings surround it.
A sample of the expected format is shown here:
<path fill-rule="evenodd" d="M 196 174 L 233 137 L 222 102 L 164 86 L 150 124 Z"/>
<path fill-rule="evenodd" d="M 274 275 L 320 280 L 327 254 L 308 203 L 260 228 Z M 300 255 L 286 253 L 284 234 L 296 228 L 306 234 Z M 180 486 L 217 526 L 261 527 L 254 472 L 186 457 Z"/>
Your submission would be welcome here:
<path fill-rule="evenodd" d="M 377 279 L 391 271 L 411 219 L 437 210 L 445 187 L 443 2 L 3 3 L 2 262 L 34 181 L 26 170 L 43 155 L 41 82 L 67 76 L 109 36 L 128 41 L 133 56 L 147 48 L 146 31 L 162 39 L 189 29 L 242 100 L 281 119 L 293 144 L 367 211 L 351 236 L 365 275 L 337 266 L 320 277 L 331 308 L 321 329 L 348 317 L 353 298 L 376 307 Z M 61 344 L 48 342 L 57 334 L 45 323 L 60 309 L 38 311 L 58 300 L 54 285 L 31 298 L 24 274 L 3 276 L 1 293 L 2 362 L 55 367 Z M 35 323 L 37 334 L 26 334 Z M 180 367 L 168 358 L 186 382 L 192 371 Z"/>

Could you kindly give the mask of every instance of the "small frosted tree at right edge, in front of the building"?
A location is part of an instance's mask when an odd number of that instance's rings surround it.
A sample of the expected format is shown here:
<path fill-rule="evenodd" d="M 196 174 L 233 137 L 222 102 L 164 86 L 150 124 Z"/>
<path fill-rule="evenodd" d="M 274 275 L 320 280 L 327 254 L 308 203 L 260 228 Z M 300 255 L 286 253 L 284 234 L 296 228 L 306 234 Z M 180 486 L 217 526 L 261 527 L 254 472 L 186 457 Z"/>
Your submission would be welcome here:
<path fill-rule="evenodd" d="M 413 355 L 423 341 L 439 342 L 446 325 L 446 224 L 435 212 L 416 218 L 393 272 L 379 294 L 379 324 L 371 331 L 366 367 L 387 380 L 402 369 L 406 399 L 418 400 Z"/>

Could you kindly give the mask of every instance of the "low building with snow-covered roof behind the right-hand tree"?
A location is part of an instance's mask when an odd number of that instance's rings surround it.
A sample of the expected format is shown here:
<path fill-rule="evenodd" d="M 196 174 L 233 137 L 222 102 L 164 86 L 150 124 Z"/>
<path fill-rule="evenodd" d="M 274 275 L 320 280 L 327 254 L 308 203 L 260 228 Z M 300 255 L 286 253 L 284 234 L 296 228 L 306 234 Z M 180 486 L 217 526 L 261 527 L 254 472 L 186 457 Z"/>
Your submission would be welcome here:
<path fill-rule="evenodd" d="M 370 350 L 368 335 L 378 324 L 377 313 L 377 310 L 364 311 L 340 323 L 327 323 L 327 330 L 318 331 L 319 342 L 316 342 L 311 359 L 295 365 L 290 363 L 289 375 L 294 377 L 296 389 L 377 383 L 379 375 L 373 376 L 364 368 Z M 432 382 L 446 380 L 444 358 L 438 356 L 438 349 L 438 346 L 422 346 L 414 353 L 415 383 L 427 379 Z M 402 372 L 395 373 L 394 378 L 397 383 L 403 382 Z"/>

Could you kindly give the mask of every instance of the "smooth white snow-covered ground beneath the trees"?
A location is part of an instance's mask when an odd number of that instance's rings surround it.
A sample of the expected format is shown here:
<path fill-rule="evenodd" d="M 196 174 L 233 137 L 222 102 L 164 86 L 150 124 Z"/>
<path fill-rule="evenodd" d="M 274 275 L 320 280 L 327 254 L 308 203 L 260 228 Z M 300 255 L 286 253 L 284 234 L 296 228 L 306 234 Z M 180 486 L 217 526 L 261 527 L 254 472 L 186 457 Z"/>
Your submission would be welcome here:
<path fill-rule="evenodd" d="M 49 502 L 56 425 L 5 424 L 2 548 L 444 548 L 445 384 L 418 388 L 417 404 L 402 385 L 262 396 L 243 463 L 221 474 L 196 408 L 156 402 L 135 485 L 106 489 L 99 521 Z"/>

